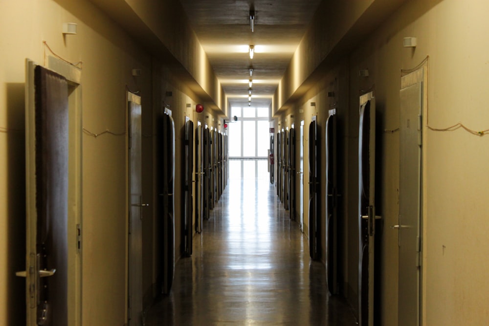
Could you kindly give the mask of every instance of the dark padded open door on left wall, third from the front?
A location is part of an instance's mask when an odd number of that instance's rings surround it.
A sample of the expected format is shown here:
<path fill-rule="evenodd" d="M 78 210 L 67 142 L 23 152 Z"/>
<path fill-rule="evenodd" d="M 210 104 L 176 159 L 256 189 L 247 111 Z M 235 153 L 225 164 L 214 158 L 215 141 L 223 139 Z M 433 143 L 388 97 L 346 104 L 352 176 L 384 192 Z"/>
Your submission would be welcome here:
<path fill-rule="evenodd" d="M 167 113 L 158 117 L 158 197 L 162 240 L 162 293 L 169 293 L 175 271 L 175 124 Z"/>

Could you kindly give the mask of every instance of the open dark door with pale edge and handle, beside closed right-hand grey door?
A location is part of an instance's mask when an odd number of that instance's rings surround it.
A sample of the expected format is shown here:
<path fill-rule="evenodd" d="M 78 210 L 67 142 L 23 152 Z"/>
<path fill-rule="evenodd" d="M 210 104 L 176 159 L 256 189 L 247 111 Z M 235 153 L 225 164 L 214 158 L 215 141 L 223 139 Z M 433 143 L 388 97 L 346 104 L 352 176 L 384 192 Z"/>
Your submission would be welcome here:
<path fill-rule="evenodd" d="M 358 134 L 358 310 L 359 325 L 374 326 L 375 262 L 375 98 L 360 97 Z"/>

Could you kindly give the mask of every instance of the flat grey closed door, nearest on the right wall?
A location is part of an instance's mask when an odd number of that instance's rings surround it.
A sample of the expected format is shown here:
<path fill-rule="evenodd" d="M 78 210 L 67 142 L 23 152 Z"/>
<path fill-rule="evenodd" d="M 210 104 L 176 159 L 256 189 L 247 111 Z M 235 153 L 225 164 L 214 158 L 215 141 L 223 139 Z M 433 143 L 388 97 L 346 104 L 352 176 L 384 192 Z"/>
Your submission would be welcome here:
<path fill-rule="evenodd" d="M 400 90 L 399 325 L 420 325 L 422 83 Z"/>

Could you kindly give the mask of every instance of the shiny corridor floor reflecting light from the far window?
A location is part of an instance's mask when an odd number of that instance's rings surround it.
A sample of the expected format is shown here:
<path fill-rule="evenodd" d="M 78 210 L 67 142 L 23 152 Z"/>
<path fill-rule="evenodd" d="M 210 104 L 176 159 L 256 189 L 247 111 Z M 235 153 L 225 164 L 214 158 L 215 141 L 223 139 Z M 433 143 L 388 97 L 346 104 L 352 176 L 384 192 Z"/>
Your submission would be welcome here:
<path fill-rule="evenodd" d="M 264 179 L 230 179 L 145 325 L 356 325 Z"/>

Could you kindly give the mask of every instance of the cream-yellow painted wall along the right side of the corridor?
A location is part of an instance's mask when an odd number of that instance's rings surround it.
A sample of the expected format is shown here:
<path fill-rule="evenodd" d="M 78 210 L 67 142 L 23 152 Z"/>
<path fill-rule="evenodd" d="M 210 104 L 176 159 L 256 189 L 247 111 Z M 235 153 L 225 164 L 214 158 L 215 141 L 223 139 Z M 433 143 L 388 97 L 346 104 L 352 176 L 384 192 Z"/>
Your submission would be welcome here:
<path fill-rule="evenodd" d="M 398 234 L 390 228 L 398 224 L 399 214 L 399 133 L 390 131 L 400 124 L 400 70 L 414 68 L 426 56 L 429 56 L 429 80 L 423 127 L 422 324 L 487 323 L 489 310 L 484 297 L 489 290 L 485 276 L 489 267 L 486 259 L 489 225 L 485 212 L 489 207 L 484 191 L 479 191 L 488 181 L 484 163 L 488 159 L 487 139 L 463 128 L 455 131 L 430 128 L 445 129 L 457 123 L 475 131 L 489 128 L 485 124 L 488 112 L 484 109 L 488 44 L 481 42 L 489 31 L 484 18 L 488 6 L 485 1 L 470 4 L 456 0 L 407 1 L 377 30 L 357 42 L 353 51 L 342 54 L 348 58 L 348 72 L 339 69 L 338 63 L 323 71 L 324 76 L 348 80 L 346 89 L 339 87 L 338 107 L 340 112 L 345 108 L 341 144 L 345 147 L 344 218 L 347 221 L 343 230 L 346 283 L 343 295 L 354 307 L 358 286 L 358 97 L 370 89 L 376 96 L 380 145 L 378 213 L 382 215 L 383 226 L 379 236 L 381 325 L 397 325 L 398 311 L 404 307 L 398 299 L 398 282 L 402 282 L 398 277 Z M 404 37 L 417 37 L 418 46 L 402 47 Z M 328 42 L 320 36 L 311 38 L 308 42 L 315 41 L 317 47 Z M 307 63 L 299 63 L 294 70 L 308 71 Z M 290 67 L 293 65 L 291 62 Z M 360 78 L 358 71 L 366 68 L 370 76 Z M 330 89 L 328 79 L 331 77 L 317 81 L 304 96 L 290 104 L 296 120 L 302 119 L 299 109 L 304 110 L 306 119 L 311 115 L 309 102 L 316 102 L 316 108 L 320 103 L 319 108 L 325 109 L 325 92 Z M 293 78 L 286 82 L 290 89 L 297 86 Z M 277 91 L 279 98 L 284 96 L 283 92 Z M 280 102 L 277 94 L 275 102 Z M 283 119 L 287 114 L 284 111 L 277 118 Z M 323 115 L 321 111 L 320 123 Z M 324 142 L 324 134 L 321 141 Z"/>

